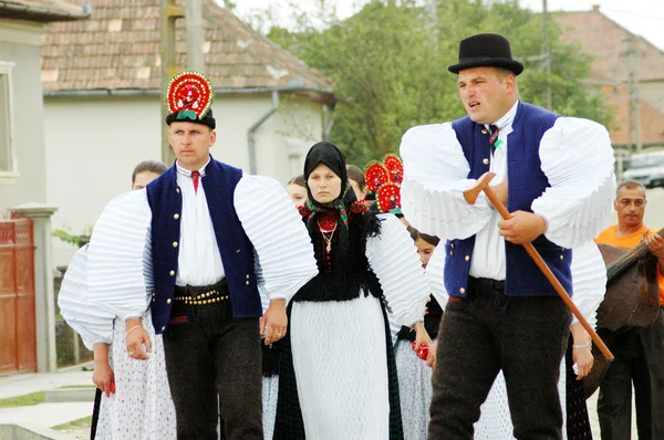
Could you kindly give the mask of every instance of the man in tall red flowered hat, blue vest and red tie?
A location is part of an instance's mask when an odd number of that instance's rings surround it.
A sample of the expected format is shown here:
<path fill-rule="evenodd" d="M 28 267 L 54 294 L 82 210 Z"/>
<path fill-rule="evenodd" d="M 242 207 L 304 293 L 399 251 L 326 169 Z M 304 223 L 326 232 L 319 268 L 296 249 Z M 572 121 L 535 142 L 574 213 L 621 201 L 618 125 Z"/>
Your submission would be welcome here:
<path fill-rule="evenodd" d="M 149 302 L 178 439 L 217 439 L 219 415 L 228 439 L 262 439 L 261 335 L 266 344 L 286 335 L 286 302 L 318 271 L 281 185 L 210 156 L 212 96 L 201 74 L 172 80 L 166 124 L 176 161 L 105 208 L 90 244 L 91 285 L 113 284 L 110 307 L 132 305 L 121 317 L 135 359 L 149 356 L 139 318 Z M 271 300 L 262 318 L 259 289 Z"/>

